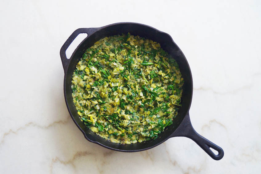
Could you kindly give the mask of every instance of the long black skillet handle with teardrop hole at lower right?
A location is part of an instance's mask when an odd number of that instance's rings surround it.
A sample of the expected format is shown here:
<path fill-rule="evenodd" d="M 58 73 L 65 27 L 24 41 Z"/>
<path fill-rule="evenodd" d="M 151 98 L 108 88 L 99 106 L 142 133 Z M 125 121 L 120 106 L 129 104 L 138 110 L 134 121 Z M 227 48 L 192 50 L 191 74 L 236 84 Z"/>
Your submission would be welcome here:
<path fill-rule="evenodd" d="M 191 125 L 189 113 L 187 113 L 187 115 L 184 117 L 179 127 L 175 130 L 173 134 L 171 134 L 170 137 L 176 137 L 176 136 L 184 136 L 195 141 L 195 143 L 197 143 L 214 160 L 221 160 L 224 156 L 224 151 L 222 148 L 212 143 L 211 141 L 207 140 L 203 136 L 199 135 L 195 131 L 195 129 Z M 215 149 L 219 153 L 215 155 L 210 148 Z"/>

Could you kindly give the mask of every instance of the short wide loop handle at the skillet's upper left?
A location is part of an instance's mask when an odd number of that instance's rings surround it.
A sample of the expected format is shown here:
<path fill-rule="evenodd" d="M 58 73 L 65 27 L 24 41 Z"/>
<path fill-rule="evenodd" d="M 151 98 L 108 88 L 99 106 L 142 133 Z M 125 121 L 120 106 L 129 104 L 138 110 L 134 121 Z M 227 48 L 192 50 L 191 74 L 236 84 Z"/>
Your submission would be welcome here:
<path fill-rule="evenodd" d="M 66 57 L 66 50 L 67 48 L 70 46 L 70 44 L 74 41 L 74 39 L 81 33 L 86 33 L 88 34 L 88 36 L 86 38 L 89 38 L 90 35 L 92 35 L 94 32 L 96 32 L 97 30 L 99 30 L 99 28 L 78 28 L 77 30 L 75 30 L 71 35 L 70 37 L 65 41 L 65 43 L 62 45 L 62 48 L 60 50 L 60 56 L 61 56 L 61 59 L 62 59 L 62 66 L 63 66 L 63 69 L 64 69 L 64 73 L 66 74 L 67 70 L 68 70 L 68 67 L 69 67 L 69 64 L 70 64 L 70 61 L 71 61 L 71 58 L 73 56 L 70 57 L 70 59 L 67 59 Z M 85 39 L 86 39 L 85 38 Z M 84 39 L 84 40 L 85 40 Z"/>

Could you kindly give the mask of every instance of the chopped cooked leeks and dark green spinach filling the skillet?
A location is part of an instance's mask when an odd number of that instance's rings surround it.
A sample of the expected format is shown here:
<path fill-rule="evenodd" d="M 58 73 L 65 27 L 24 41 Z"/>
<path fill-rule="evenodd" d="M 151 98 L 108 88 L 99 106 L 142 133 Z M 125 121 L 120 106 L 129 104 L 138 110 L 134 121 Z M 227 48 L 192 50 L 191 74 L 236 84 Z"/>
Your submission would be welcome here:
<path fill-rule="evenodd" d="M 72 76 L 83 123 L 114 143 L 155 139 L 178 113 L 184 81 L 160 44 L 128 34 L 86 50 Z"/>

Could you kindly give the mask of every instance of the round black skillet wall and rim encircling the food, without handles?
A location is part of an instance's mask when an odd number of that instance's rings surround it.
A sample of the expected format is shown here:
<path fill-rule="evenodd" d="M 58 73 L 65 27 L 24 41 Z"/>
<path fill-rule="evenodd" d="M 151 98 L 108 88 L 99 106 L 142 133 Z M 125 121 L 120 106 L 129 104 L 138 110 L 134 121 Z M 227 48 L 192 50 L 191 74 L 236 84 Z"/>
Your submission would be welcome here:
<path fill-rule="evenodd" d="M 86 51 L 88 47 L 91 47 L 94 42 L 98 41 L 101 38 L 108 37 L 111 35 L 117 34 L 126 34 L 130 32 L 132 35 L 139 35 L 140 37 L 149 38 L 155 42 L 160 43 L 163 50 L 167 51 L 179 64 L 179 68 L 184 79 L 183 93 L 181 97 L 181 107 L 179 108 L 179 113 L 175 119 L 173 119 L 173 124 L 168 126 L 164 132 L 162 132 L 159 137 L 155 140 L 148 140 L 142 143 L 135 144 L 117 144 L 112 143 L 108 140 L 103 139 L 102 137 L 96 135 L 89 128 L 87 128 L 82 121 L 80 120 L 79 115 L 75 109 L 73 99 L 72 99 L 72 90 L 71 90 L 71 78 L 76 67 L 76 64 Z M 110 26 L 101 27 L 94 34 L 90 35 L 86 40 L 80 44 L 72 55 L 72 59 L 68 68 L 67 73 L 65 74 L 65 95 L 68 103 L 69 112 L 74 119 L 75 123 L 78 124 L 78 127 L 84 132 L 87 139 L 90 141 L 96 142 L 106 148 L 118 150 L 118 151 L 141 151 L 148 148 L 152 148 L 165 140 L 176 130 L 183 118 L 185 117 L 187 111 L 189 110 L 191 99 L 192 99 L 192 78 L 191 71 L 185 56 L 179 47 L 172 41 L 171 37 L 159 30 L 156 30 L 152 27 L 145 26 L 137 23 L 119 23 L 113 24 Z"/>

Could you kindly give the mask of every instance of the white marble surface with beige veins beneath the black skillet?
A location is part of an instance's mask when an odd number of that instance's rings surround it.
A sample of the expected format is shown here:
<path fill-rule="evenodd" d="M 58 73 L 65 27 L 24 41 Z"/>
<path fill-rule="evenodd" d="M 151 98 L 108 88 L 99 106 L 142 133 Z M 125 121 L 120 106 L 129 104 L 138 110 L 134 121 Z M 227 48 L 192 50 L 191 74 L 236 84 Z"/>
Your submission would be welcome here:
<path fill-rule="evenodd" d="M 0 173 L 260 173 L 260 1 L 0 1 Z M 169 33 L 194 82 L 188 138 L 144 152 L 90 143 L 63 96 L 62 44 L 77 28 L 139 22 Z"/>

